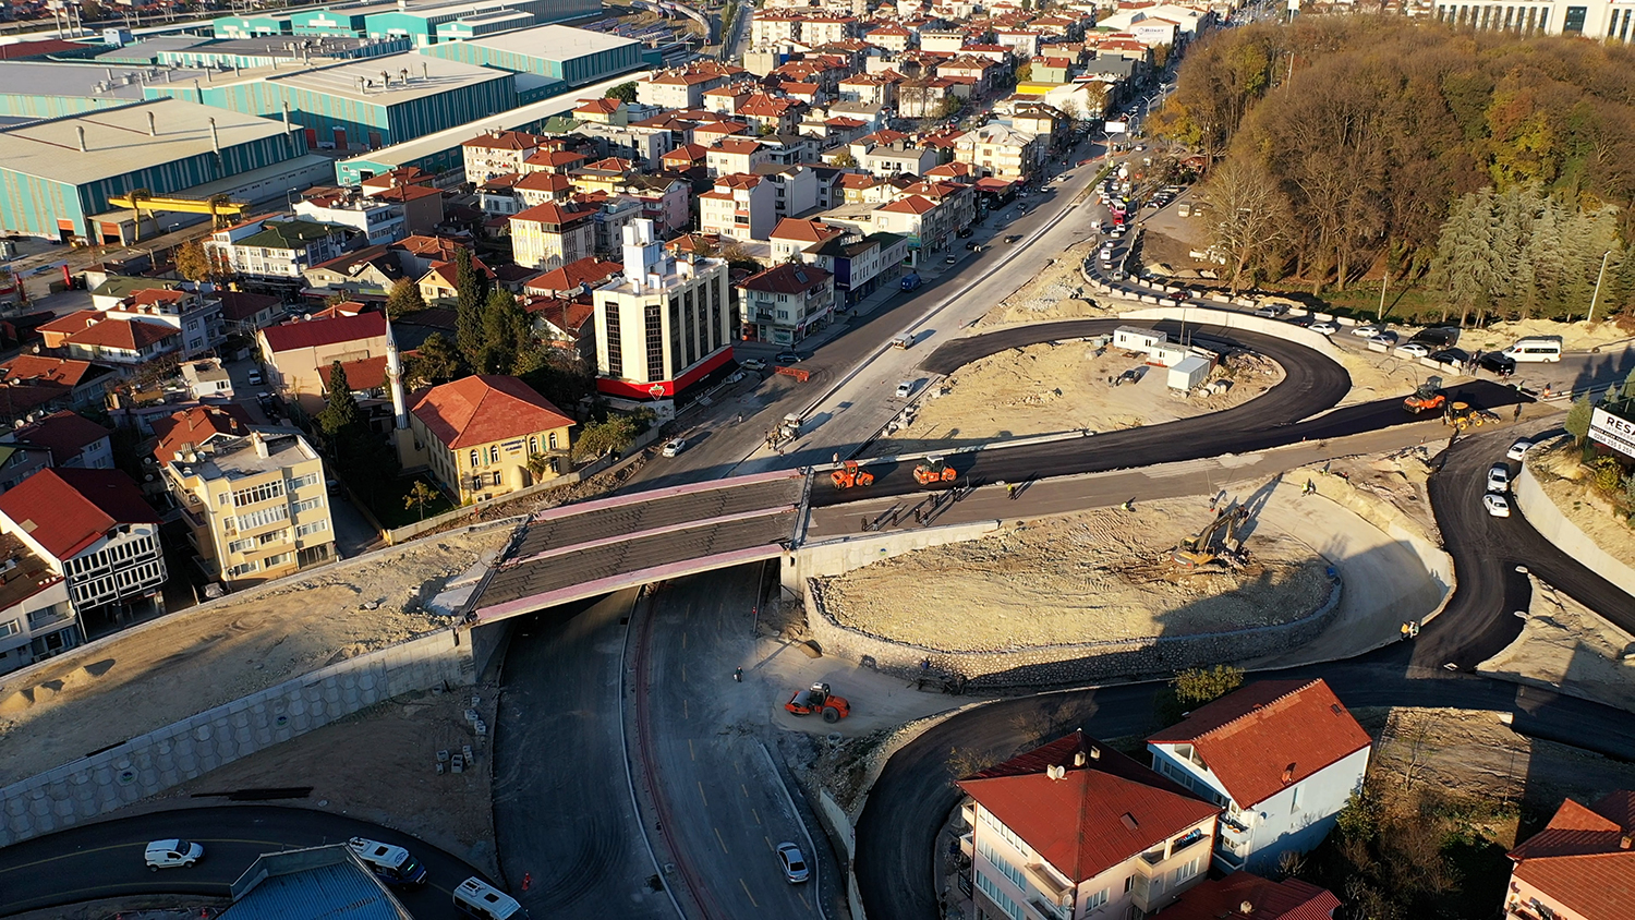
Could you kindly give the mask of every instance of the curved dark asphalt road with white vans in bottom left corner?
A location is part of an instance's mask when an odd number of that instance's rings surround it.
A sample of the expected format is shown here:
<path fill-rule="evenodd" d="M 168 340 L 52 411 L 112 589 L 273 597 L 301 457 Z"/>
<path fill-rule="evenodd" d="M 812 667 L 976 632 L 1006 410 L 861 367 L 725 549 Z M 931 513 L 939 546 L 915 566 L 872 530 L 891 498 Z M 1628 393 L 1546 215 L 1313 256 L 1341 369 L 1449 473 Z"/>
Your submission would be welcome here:
<path fill-rule="evenodd" d="M 201 843 L 188 868 L 150 871 L 149 840 Z M 121 895 L 227 897 L 257 856 L 368 837 L 407 846 L 427 868 L 427 886 L 397 897 L 419 920 L 455 917 L 455 886 L 482 876 L 463 860 L 405 833 L 312 809 L 216 806 L 82 824 L 0 850 L 0 917 Z"/>

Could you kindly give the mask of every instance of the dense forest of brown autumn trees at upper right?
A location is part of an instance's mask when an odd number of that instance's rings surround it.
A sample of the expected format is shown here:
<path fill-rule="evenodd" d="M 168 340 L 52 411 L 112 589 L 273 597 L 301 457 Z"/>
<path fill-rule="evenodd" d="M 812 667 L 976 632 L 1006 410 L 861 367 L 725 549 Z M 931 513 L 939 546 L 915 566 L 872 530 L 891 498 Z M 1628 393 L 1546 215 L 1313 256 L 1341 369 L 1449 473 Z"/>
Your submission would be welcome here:
<path fill-rule="evenodd" d="M 1210 34 L 1151 127 L 1210 157 L 1233 286 L 1388 273 L 1452 315 L 1635 307 L 1635 49 L 1303 16 Z M 1604 275 L 1602 275 L 1604 271 Z"/>

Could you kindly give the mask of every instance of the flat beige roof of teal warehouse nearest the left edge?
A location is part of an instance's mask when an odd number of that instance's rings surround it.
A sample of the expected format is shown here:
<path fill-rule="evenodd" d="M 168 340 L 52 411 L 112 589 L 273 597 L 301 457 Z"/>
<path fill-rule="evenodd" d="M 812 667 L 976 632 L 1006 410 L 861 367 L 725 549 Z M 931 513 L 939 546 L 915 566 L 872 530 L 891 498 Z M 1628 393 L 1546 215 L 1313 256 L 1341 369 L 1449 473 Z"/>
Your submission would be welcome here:
<path fill-rule="evenodd" d="M 157 136 L 147 132 L 149 113 Z M 208 154 L 209 119 L 216 119 L 224 149 L 284 134 L 284 126 L 273 119 L 181 100 L 150 100 L 0 131 L 0 170 L 85 185 Z M 85 152 L 78 127 L 85 129 Z"/>

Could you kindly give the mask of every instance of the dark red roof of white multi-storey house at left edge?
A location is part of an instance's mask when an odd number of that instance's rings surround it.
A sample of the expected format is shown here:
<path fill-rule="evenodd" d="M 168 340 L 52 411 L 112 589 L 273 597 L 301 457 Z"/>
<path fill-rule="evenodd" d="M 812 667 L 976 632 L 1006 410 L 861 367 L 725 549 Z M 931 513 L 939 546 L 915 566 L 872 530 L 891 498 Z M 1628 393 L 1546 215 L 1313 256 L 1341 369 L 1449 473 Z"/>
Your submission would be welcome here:
<path fill-rule="evenodd" d="M 43 469 L 0 495 L 0 511 L 57 559 L 72 559 L 118 525 L 159 523 L 118 469 Z"/>

